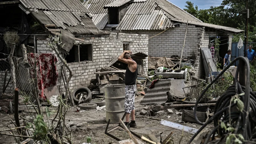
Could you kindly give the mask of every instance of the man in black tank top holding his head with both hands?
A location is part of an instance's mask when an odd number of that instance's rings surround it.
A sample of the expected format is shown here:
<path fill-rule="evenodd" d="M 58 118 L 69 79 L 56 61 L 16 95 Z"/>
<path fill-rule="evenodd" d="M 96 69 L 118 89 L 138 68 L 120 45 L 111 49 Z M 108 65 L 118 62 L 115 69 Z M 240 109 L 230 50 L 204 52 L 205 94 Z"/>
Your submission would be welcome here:
<path fill-rule="evenodd" d="M 134 97 L 137 90 L 137 75 L 138 75 L 138 67 L 137 63 L 132 60 L 130 53 L 124 51 L 119 57 L 118 60 L 128 64 L 125 72 L 125 100 L 124 100 L 124 111 L 125 115 L 125 125 L 129 127 L 137 127 L 135 123 L 135 107 L 134 107 Z M 130 121 L 130 114 L 132 117 L 132 121 Z"/>

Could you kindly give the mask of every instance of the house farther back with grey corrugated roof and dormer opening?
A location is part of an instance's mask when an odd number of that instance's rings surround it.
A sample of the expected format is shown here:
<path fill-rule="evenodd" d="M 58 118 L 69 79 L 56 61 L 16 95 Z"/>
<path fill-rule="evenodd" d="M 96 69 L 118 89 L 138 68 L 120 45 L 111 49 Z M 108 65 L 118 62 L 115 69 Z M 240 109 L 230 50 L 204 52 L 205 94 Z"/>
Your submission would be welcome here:
<path fill-rule="evenodd" d="M 231 49 L 232 34 L 243 31 L 204 23 L 167 0 L 87 0 L 84 6 L 92 13 L 92 21 L 99 29 L 147 34 L 151 57 L 180 56 L 188 21 L 183 56 L 195 60 L 198 77 L 205 75 L 201 48 L 211 48 L 218 37 L 220 50 L 215 56 L 223 59 Z"/>

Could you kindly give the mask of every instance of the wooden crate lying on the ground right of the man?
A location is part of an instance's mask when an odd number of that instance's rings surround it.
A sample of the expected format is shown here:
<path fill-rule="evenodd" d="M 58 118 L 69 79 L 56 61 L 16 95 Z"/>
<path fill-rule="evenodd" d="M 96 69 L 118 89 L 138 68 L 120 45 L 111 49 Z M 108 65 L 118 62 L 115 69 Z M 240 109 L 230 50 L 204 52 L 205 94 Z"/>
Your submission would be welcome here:
<path fill-rule="evenodd" d="M 205 112 L 196 112 L 196 116 L 200 122 L 205 122 L 208 116 Z M 182 110 L 182 121 L 196 123 L 194 111 L 192 110 Z"/>

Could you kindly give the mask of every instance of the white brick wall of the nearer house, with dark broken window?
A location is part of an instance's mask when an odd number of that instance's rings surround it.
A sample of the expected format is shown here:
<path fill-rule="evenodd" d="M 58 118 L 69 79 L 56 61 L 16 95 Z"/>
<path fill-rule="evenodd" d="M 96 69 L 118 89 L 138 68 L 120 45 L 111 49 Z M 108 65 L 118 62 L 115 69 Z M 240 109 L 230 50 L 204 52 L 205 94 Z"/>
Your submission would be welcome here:
<path fill-rule="evenodd" d="M 84 44 L 92 43 L 93 60 L 84 62 L 68 63 L 72 70 L 73 77 L 70 81 L 70 89 L 73 90 L 79 86 L 88 86 L 91 79 L 95 79 L 96 69 L 107 66 L 108 63 L 123 52 L 123 42 L 130 42 L 130 50 L 133 53 L 143 52 L 148 54 L 148 35 L 111 33 L 104 36 L 78 36 L 84 39 Z M 77 43 L 80 43 L 76 41 Z M 37 41 L 38 53 L 52 53 L 53 51 L 47 46 L 47 41 Z M 81 43 L 80 43 L 81 44 Z M 45 46 L 46 45 L 46 46 Z M 59 60 L 60 62 L 60 60 Z M 145 60 L 147 72 L 148 60 Z M 58 64 L 59 82 L 58 86 L 63 91 L 64 85 L 60 75 L 60 63 Z M 67 70 L 66 70 L 67 71 Z M 69 75 L 67 71 L 67 76 Z"/>

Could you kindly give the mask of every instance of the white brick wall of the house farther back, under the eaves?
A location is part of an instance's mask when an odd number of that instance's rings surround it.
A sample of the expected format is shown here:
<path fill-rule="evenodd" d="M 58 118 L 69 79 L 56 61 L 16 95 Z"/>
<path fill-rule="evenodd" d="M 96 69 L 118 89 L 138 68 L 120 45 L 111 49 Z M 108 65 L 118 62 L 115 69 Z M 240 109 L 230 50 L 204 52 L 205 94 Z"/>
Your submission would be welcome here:
<path fill-rule="evenodd" d="M 184 43 L 186 24 L 180 24 L 175 28 L 163 30 L 130 30 L 122 31 L 124 33 L 148 34 L 148 55 L 153 57 L 171 57 L 181 54 Z M 163 32 L 163 33 L 161 33 Z M 159 34 L 161 33 L 161 34 Z M 159 34 L 159 35 L 157 35 Z M 157 36 L 156 36 L 157 35 Z M 152 37 L 155 36 L 155 37 Z M 232 45 L 232 34 L 221 31 L 207 31 L 205 28 L 188 26 L 186 43 L 183 50 L 183 56 L 189 59 L 195 59 L 196 76 L 202 77 L 204 73 L 204 64 L 201 56 L 201 47 L 208 47 L 210 36 L 229 36 L 229 46 Z M 152 37 L 152 38 L 150 38 Z"/>

